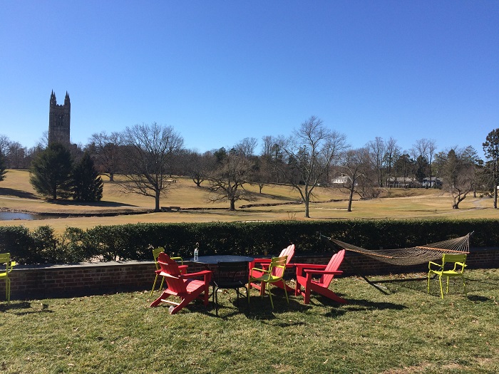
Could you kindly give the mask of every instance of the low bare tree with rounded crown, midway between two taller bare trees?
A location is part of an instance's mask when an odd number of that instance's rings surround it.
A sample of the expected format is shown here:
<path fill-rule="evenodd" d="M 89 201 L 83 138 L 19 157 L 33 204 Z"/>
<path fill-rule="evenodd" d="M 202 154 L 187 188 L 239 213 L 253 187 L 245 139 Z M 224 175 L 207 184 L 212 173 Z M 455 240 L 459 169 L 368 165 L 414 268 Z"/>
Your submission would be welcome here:
<path fill-rule="evenodd" d="M 237 200 L 252 201 L 252 194 L 247 192 L 245 184 L 249 183 L 252 162 L 237 152 L 223 153 L 218 167 L 210 173 L 210 195 L 208 201 L 230 202 L 230 211 L 235 210 Z"/>

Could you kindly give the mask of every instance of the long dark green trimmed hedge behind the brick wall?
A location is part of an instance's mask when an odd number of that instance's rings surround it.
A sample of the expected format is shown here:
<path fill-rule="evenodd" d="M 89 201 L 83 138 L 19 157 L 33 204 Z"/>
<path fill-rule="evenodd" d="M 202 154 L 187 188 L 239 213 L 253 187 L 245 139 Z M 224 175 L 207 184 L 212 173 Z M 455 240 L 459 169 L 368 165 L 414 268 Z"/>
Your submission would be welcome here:
<path fill-rule="evenodd" d="M 150 260 L 151 247 L 170 254 L 279 253 L 294 243 L 297 253 L 331 251 L 318 233 L 367 249 L 404 248 L 461 237 L 475 232 L 471 246 L 499 246 L 499 220 L 334 220 L 232 223 L 125 224 L 91 229 L 68 227 L 56 235 L 48 226 L 30 232 L 25 227 L 0 227 L 0 252 L 10 252 L 20 264 L 63 264 L 90 259 Z"/>

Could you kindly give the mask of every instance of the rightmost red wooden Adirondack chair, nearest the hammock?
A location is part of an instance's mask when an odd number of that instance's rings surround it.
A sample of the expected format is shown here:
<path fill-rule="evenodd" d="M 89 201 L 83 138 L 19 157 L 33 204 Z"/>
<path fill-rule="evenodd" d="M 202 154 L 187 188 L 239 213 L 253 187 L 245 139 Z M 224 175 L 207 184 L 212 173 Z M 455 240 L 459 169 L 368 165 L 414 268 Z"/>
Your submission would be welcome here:
<path fill-rule="evenodd" d="M 297 286 L 294 290 L 294 296 L 304 296 L 304 303 L 308 304 L 310 302 L 310 291 L 315 291 L 317 294 L 331 298 L 331 300 L 337 301 L 338 303 L 346 303 L 344 298 L 339 297 L 329 289 L 329 284 L 331 284 L 333 277 L 343 273 L 343 271 L 339 271 L 338 268 L 341 265 L 344 256 L 345 250 L 341 249 L 341 251 L 331 257 L 331 260 L 329 260 L 329 264 L 327 265 L 294 264 L 297 268 Z M 305 273 L 305 275 L 303 275 L 303 273 Z M 312 278 L 314 275 L 320 275 L 321 279 L 319 279 L 319 281 L 314 280 Z M 304 287 L 304 291 L 302 291 L 302 286 Z"/>

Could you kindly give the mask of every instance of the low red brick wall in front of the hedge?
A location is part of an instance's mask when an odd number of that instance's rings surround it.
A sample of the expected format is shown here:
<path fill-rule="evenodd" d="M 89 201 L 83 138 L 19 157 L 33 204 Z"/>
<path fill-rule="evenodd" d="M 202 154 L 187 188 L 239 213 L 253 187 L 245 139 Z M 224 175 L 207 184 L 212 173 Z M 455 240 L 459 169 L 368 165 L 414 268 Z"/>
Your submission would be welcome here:
<path fill-rule="evenodd" d="M 326 264 L 330 258 L 331 254 L 307 257 L 296 254 L 293 262 Z M 428 271 L 428 264 L 393 266 L 347 251 L 345 261 L 340 267 L 346 276 L 356 274 L 349 263 L 364 275 Z M 471 249 L 466 263 L 468 269 L 499 268 L 499 248 Z M 205 269 L 202 264 L 186 264 L 189 265 L 190 272 Z M 150 290 L 153 286 L 154 270 L 153 261 L 16 266 L 10 274 L 11 298 L 32 300 Z M 289 279 L 294 278 L 294 269 L 287 270 L 286 276 Z M 4 294 L 5 282 L 0 281 L 0 301 L 4 300 Z"/>

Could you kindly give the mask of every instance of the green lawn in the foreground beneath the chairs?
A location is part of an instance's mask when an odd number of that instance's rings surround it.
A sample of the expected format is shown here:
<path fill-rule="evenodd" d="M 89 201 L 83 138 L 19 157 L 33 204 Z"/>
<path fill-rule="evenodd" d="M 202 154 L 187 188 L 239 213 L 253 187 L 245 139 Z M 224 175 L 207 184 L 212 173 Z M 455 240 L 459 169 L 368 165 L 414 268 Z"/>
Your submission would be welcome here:
<path fill-rule="evenodd" d="M 0 304 L 2 373 L 499 373 L 499 270 L 466 272 L 442 300 L 426 274 L 385 276 L 389 295 L 339 278 L 339 305 L 308 306 L 282 290 L 234 294 L 215 309 L 191 303 L 170 316 L 149 291 Z M 152 281 L 152 279 L 151 279 Z M 291 283 L 291 282 L 290 282 Z M 158 292 L 154 297 L 158 296 Z M 231 296 L 231 298 L 229 298 Z"/>

